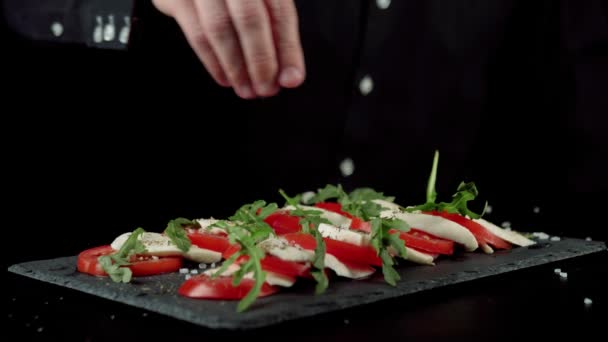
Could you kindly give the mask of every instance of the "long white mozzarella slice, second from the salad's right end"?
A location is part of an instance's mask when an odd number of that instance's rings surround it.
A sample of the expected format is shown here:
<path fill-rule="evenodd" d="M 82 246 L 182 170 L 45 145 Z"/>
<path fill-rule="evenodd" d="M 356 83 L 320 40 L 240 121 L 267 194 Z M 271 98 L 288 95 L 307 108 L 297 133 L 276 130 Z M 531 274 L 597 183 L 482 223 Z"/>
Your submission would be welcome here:
<path fill-rule="evenodd" d="M 474 251 L 479 247 L 475 236 L 468 229 L 441 216 L 389 210 L 382 211 L 380 216 L 398 218 L 407 222 L 412 228 L 464 245 L 468 251 Z"/>

